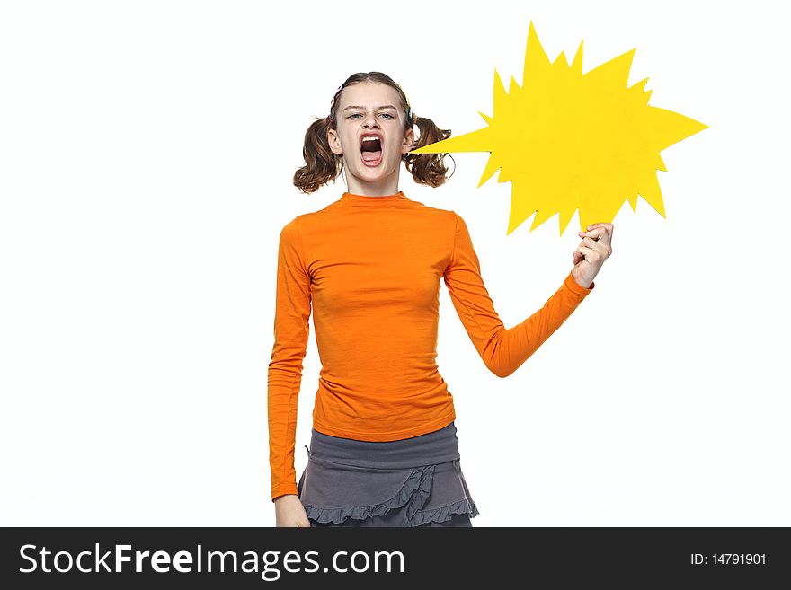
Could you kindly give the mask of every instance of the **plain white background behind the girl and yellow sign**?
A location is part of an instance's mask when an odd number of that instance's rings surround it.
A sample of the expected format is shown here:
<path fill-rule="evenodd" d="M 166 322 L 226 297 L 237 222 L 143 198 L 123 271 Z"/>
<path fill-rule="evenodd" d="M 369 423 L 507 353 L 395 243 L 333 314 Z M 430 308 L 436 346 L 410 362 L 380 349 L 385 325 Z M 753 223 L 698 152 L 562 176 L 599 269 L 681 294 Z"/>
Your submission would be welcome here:
<path fill-rule="evenodd" d="M 441 289 L 473 524 L 791 525 L 786 23 L 735 5 L 2 4 L 2 524 L 273 525 L 278 234 L 345 189 L 292 185 L 307 126 L 379 70 L 454 136 L 482 128 L 532 20 L 550 59 L 584 40 L 586 72 L 636 48 L 629 84 L 709 128 L 662 152 L 667 218 L 624 204 L 594 292 L 515 374 Z M 465 217 L 511 327 L 571 269 L 577 216 L 507 236 L 511 185 L 454 158 L 399 189 Z"/>

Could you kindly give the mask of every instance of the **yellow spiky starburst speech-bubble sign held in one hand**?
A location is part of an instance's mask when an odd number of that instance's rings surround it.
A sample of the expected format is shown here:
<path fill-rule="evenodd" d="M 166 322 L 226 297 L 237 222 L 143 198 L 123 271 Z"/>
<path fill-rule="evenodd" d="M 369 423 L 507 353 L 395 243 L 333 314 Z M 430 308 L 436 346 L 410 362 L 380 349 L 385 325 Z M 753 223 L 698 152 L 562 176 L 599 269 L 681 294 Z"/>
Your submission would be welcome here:
<path fill-rule="evenodd" d="M 564 54 L 550 63 L 530 22 L 523 86 L 511 76 L 506 94 L 494 71 L 488 127 L 449 137 L 411 154 L 490 152 L 478 187 L 500 170 L 511 182 L 508 232 L 536 214 L 529 231 L 559 215 L 560 234 L 580 211 L 580 227 L 612 222 L 638 194 L 665 216 L 656 171 L 659 153 L 707 128 L 671 110 L 648 106 L 648 78 L 627 88 L 635 49 L 582 74 L 582 43 L 571 66 Z"/>

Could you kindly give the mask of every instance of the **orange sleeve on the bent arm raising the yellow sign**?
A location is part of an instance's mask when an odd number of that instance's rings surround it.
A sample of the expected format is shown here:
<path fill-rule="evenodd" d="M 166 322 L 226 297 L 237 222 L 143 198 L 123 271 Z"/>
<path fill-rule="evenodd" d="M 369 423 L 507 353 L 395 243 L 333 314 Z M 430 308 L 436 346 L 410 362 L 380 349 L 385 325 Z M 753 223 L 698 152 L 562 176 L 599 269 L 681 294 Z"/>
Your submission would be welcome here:
<path fill-rule="evenodd" d="M 455 212 L 454 212 L 455 213 Z M 444 280 L 458 317 L 486 367 L 499 377 L 516 371 L 594 288 L 577 285 L 571 272 L 544 306 L 527 320 L 506 329 L 494 310 L 467 224 L 456 214 L 453 253 Z"/>

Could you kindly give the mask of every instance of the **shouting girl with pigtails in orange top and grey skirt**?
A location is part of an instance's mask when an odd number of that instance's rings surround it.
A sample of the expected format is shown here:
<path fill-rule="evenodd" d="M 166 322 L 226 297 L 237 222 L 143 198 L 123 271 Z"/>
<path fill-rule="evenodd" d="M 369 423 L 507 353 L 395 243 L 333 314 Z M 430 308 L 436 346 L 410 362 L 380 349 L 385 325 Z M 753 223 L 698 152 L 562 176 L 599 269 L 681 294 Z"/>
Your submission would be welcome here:
<path fill-rule="evenodd" d="M 414 139 L 414 125 L 420 137 Z M 472 526 L 453 396 L 437 364 L 440 277 L 489 370 L 513 373 L 593 289 L 611 224 L 580 233 L 574 266 L 537 313 L 505 329 L 464 219 L 398 190 L 446 181 L 445 154 L 408 154 L 450 136 L 416 117 L 380 72 L 351 75 L 307 129 L 294 184 L 311 193 L 342 171 L 348 190 L 280 233 L 268 413 L 277 526 Z M 589 228 L 590 229 L 590 228 Z M 307 449 L 294 448 L 313 306 L 322 362 Z"/>

